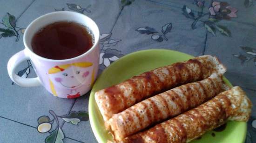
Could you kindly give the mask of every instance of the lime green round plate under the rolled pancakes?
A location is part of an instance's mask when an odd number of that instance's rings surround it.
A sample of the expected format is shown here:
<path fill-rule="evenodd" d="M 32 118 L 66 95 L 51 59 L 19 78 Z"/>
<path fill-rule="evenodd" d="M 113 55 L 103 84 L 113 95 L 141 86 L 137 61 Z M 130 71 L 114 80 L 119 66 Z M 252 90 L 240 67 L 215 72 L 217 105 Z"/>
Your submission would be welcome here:
<path fill-rule="evenodd" d="M 103 118 L 95 102 L 94 93 L 96 91 L 118 84 L 145 71 L 191 58 L 193 56 L 174 50 L 141 50 L 121 57 L 106 68 L 95 82 L 89 99 L 90 124 L 97 141 L 106 143 L 107 140 L 112 140 L 112 137 L 105 130 Z M 223 80 L 232 87 L 226 78 L 223 78 Z M 209 131 L 201 139 L 194 140 L 191 143 L 243 143 L 246 128 L 245 122 L 228 122 L 224 131 Z M 215 134 L 215 137 L 211 135 L 212 133 Z"/>

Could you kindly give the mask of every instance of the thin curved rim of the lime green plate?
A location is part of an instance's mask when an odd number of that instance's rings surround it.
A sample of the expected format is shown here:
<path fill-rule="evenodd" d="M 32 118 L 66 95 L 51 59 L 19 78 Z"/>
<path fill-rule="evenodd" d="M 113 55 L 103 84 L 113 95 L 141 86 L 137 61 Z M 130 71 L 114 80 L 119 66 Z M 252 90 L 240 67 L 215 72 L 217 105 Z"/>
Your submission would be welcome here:
<path fill-rule="evenodd" d="M 105 69 L 102 71 L 101 75 L 99 75 L 99 76 L 97 77 L 97 80 L 95 81 L 95 83 L 94 83 L 94 85 L 93 85 L 93 87 L 92 87 L 92 90 L 91 90 L 91 92 L 90 92 L 89 101 L 88 101 L 89 122 L 90 122 L 91 129 L 92 129 L 92 131 L 93 131 L 93 133 L 94 133 L 94 137 L 96 138 L 96 140 L 97 140 L 98 143 L 104 143 L 104 141 L 102 140 L 102 137 L 99 136 L 99 131 L 97 131 L 96 128 L 95 128 L 95 122 L 93 122 L 95 114 L 92 114 L 92 113 L 91 113 L 91 112 L 93 112 L 92 110 L 93 110 L 93 106 L 94 106 L 94 105 L 92 105 L 92 104 L 93 104 L 93 101 L 92 101 L 92 100 L 94 100 L 94 93 L 96 92 L 96 91 L 94 91 L 94 90 L 95 90 L 95 85 L 97 85 L 98 82 L 99 82 L 99 81 L 98 81 L 98 78 L 100 78 L 109 68 L 115 66 L 115 64 L 116 64 L 117 62 L 120 62 L 120 61 L 122 61 L 123 59 L 128 58 L 129 56 L 133 56 L 133 55 L 136 55 L 136 54 L 140 54 L 141 52 L 143 53 L 143 52 L 152 52 L 152 51 L 157 51 L 157 52 L 159 52 L 159 51 L 168 51 L 168 52 L 174 52 L 174 53 L 178 53 L 178 54 L 183 54 L 183 55 L 189 56 L 189 57 L 191 57 L 191 58 L 195 57 L 195 56 L 189 55 L 189 54 L 187 54 L 187 53 L 183 53 L 183 52 L 176 51 L 176 50 L 168 50 L 168 49 L 138 50 L 138 51 L 129 53 L 129 54 L 125 55 L 125 56 L 122 56 L 121 58 L 119 58 L 119 59 L 116 60 L 115 62 L 111 63 L 107 68 L 105 68 Z M 224 81 L 225 83 L 227 83 L 227 84 L 229 85 L 229 87 L 233 87 L 232 84 L 230 83 L 230 81 L 229 81 L 225 76 L 223 76 L 223 81 Z M 246 133 L 247 133 L 247 124 L 246 124 L 246 122 L 243 122 L 243 123 L 245 124 L 245 133 L 244 133 L 245 135 L 243 136 L 243 143 L 244 143 L 244 141 L 245 141 L 245 139 L 246 139 Z"/>

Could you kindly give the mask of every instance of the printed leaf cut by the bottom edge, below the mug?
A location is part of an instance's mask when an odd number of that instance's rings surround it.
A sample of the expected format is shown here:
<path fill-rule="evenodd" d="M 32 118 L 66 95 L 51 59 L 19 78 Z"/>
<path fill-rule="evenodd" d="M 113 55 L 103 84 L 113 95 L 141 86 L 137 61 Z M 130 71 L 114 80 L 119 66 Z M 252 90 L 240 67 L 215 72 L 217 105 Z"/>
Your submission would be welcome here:
<path fill-rule="evenodd" d="M 64 133 L 60 127 L 51 132 L 51 135 L 45 139 L 46 143 L 64 143 Z"/>

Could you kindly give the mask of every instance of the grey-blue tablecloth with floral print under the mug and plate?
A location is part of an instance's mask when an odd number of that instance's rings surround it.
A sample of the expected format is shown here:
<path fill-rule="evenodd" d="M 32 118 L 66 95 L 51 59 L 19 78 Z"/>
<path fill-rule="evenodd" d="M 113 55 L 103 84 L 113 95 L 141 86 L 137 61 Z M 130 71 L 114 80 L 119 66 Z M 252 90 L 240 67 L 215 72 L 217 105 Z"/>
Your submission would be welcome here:
<path fill-rule="evenodd" d="M 228 68 L 225 76 L 229 81 L 242 87 L 254 102 L 246 143 L 256 143 L 256 0 L 203 1 L 0 0 L 0 143 L 46 142 L 50 132 L 58 129 L 56 122 L 51 122 L 49 132 L 38 132 L 41 116 L 54 118 L 49 111 L 57 115 L 64 143 L 97 142 L 88 118 L 77 125 L 63 119 L 70 112 L 88 112 L 89 93 L 60 99 L 42 86 L 15 85 L 7 74 L 8 59 L 24 49 L 24 29 L 32 20 L 54 11 L 80 12 L 97 23 L 100 71 L 137 50 L 171 49 L 193 56 L 217 56 Z M 6 19 L 13 26 L 8 26 Z M 25 78 L 36 76 L 29 61 L 16 72 Z"/>

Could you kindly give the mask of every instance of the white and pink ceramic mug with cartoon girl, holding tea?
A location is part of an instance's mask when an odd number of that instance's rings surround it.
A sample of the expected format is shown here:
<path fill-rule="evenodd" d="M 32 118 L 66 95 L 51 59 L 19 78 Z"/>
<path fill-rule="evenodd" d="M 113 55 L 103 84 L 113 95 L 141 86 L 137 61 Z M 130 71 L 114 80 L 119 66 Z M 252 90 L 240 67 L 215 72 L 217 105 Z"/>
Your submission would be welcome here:
<path fill-rule="evenodd" d="M 94 36 L 93 46 L 80 56 L 53 60 L 35 54 L 31 47 L 34 34 L 46 25 L 58 21 L 72 21 L 86 26 Z M 40 16 L 27 26 L 23 43 L 25 49 L 13 55 L 7 64 L 10 78 L 22 87 L 44 86 L 48 92 L 60 98 L 77 98 L 87 93 L 97 76 L 99 68 L 100 31 L 95 22 L 77 12 L 52 12 Z M 20 62 L 30 59 L 36 78 L 22 78 L 14 73 Z"/>

